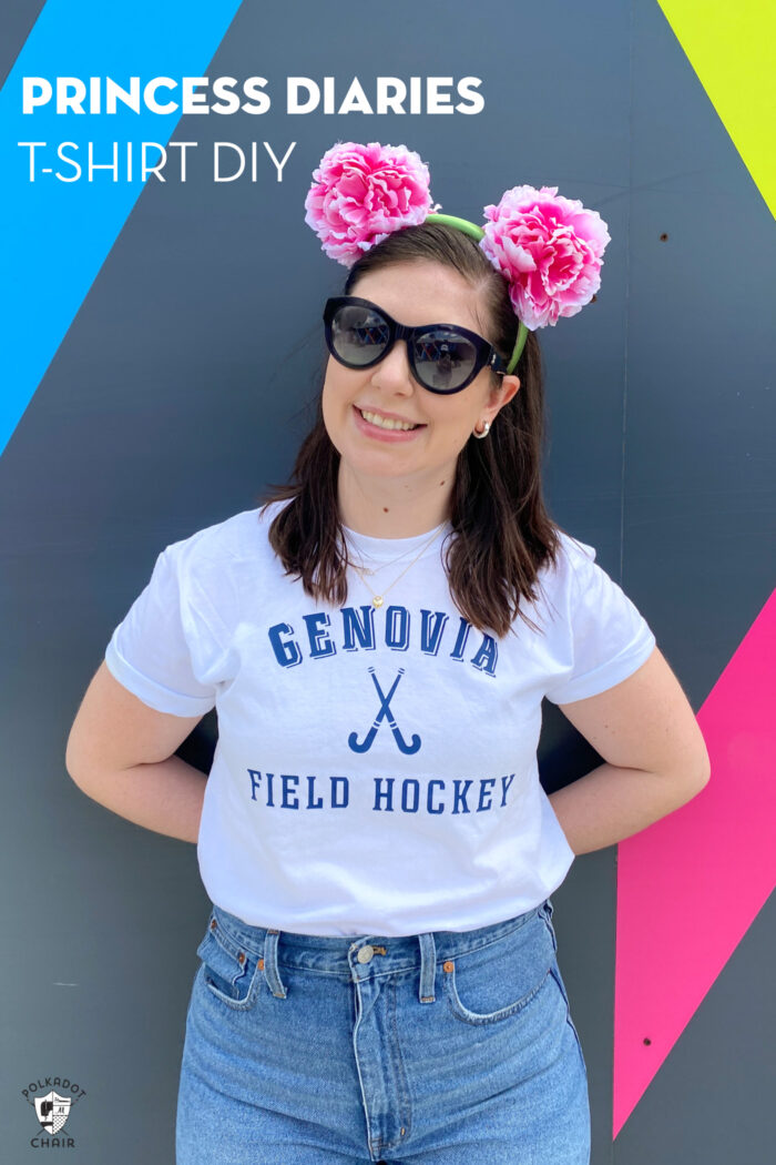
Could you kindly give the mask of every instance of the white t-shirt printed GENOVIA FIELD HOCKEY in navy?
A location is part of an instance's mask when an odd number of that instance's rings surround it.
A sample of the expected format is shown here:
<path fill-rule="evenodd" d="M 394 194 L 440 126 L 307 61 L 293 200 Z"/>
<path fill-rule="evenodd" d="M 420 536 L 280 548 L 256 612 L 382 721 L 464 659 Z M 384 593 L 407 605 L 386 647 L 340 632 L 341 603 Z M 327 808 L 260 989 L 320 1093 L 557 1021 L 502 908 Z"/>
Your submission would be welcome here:
<path fill-rule="evenodd" d="M 266 537 L 284 504 L 169 545 L 106 649 L 150 707 L 216 708 L 198 840 L 209 898 L 250 925 L 348 937 L 539 905 L 574 861 L 539 782 L 542 698 L 626 679 L 655 645 L 648 624 L 561 534 L 526 608 L 544 634 L 521 619 L 517 635 L 478 631 L 450 598 L 449 524 L 390 589 L 428 532 L 348 531 L 361 562 L 383 563 L 368 579 L 384 605 L 351 569 L 343 607 L 316 605 Z"/>

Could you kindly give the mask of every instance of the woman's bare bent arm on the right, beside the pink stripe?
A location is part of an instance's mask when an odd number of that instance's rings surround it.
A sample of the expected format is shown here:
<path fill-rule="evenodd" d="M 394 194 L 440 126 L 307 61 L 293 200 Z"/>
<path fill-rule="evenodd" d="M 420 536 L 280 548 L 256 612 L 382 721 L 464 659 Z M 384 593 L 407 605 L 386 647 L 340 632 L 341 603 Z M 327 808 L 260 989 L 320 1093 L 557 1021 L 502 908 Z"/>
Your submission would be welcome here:
<path fill-rule="evenodd" d="M 698 721 L 657 648 L 621 684 L 558 707 L 605 761 L 549 797 L 575 854 L 639 833 L 709 781 Z"/>

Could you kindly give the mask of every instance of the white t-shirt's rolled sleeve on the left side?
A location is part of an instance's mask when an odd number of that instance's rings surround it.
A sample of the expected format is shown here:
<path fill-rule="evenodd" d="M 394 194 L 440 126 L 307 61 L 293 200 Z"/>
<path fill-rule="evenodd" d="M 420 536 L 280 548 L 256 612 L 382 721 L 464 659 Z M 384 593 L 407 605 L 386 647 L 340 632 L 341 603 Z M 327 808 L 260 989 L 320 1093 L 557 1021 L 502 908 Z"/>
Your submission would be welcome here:
<path fill-rule="evenodd" d="M 193 601 L 193 545 L 185 539 L 162 551 L 105 652 L 120 684 L 157 712 L 178 716 L 204 715 L 215 706 L 214 663 L 222 648 L 221 620 L 207 617 L 207 603 L 202 617 Z"/>

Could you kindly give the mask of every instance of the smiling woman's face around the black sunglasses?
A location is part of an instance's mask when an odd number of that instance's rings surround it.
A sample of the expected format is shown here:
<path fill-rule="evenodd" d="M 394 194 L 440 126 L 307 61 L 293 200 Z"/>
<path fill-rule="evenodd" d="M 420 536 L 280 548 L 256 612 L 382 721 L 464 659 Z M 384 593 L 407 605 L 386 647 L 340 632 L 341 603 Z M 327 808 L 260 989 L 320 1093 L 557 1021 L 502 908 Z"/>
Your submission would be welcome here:
<path fill-rule="evenodd" d="M 485 339 L 486 313 L 474 288 L 457 271 L 419 260 L 364 275 L 350 289 L 370 299 L 399 324 L 458 324 Z M 328 435 L 341 456 L 341 473 L 368 478 L 406 479 L 407 485 L 450 489 L 458 453 L 474 438 L 475 426 L 493 418 L 520 387 L 517 376 L 499 376 L 496 389 L 487 368 L 460 393 L 442 395 L 413 377 L 407 345 L 397 340 L 371 368 L 346 368 L 329 355 L 322 409 Z M 412 431 L 378 429 L 361 410 L 408 421 Z M 487 437 L 484 438 L 487 440 Z M 414 493 L 414 488 L 413 488 Z"/>

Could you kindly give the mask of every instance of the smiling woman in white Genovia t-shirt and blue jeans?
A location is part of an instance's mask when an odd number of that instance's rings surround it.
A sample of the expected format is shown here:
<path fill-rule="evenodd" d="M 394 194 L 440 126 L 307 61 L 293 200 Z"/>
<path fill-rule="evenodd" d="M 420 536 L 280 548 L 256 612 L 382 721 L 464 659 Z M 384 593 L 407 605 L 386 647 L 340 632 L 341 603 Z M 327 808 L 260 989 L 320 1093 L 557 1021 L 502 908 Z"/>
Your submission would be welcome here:
<path fill-rule="evenodd" d="M 351 147 L 333 198 L 364 157 L 372 192 L 414 190 Z M 357 221 L 292 483 L 159 555 L 67 768 L 198 842 L 178 1165 L 583 1165 L 549 896 L 709 758 L 646 621 L 547 515 L 539 343 L 477 228 L 422 199 Z M 550 798 L 543 697 L 605 757 Z M 205 782 L 173 754 L 214 706 Z"/>

